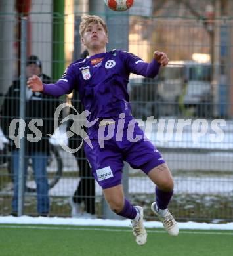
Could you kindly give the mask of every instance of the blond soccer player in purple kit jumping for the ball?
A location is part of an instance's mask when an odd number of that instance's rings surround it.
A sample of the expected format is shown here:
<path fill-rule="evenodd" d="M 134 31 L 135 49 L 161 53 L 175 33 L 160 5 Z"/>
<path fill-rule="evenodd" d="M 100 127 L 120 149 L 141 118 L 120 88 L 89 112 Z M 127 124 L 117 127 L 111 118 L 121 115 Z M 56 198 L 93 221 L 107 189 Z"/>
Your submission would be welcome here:
<path fill-rule="evenodd" d="M 95 125 L 88 129 L 92 148 L 85 143 L 86 156 L 112 211 L 131 219 L 137 244 L 144 245 L 147 238 L 143 209 L 131 205 L 124 197 L 121 185 L 123 161 L 127 161 L 135 169 L 142 169 L 156 184 L 156 202 L 152 203 L 151 209 L 167 232 L 177 236 L 177 223 L 167 209 L 173 196 L 173 177 L 160 152 L 145 138 L 144 132 L 133 118 L 127 93 L 131 72 L 144 77 L 155 77 L 160 66 L 168 64 L 167 54 L 155 51 L 152 62 L 145 63 L 126 51 L 107 52 L 108 28 L 98 16 L 83 17 L 79 32 L 89 57 L 70 64 L 55 84 L 43 84 L 34 75 L 28 79 L 28 87 L 33 92 L 53 96 L 68 94 L 76 89 L 85 110 L 91 112 L 87 116 L 88 121 L 98 118 Z M 109 135 L 110 130 L 113 131 L 112 136 Z M 141 135 L 140 139 L 136 139 L 135 135 Z"/>

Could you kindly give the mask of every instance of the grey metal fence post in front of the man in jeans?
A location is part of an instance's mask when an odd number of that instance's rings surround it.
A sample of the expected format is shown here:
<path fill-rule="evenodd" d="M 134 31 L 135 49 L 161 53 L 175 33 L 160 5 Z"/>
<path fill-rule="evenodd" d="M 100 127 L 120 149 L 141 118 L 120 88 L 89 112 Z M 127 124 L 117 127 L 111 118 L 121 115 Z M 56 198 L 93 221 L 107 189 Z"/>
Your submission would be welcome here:
<path fill-rule="evenodd" d="M 26 62 L 27 62 L 27 18 L 21 18 L 20 42 L 20 119 L 25 120 L 26 104 Z M 19 123 L 19 134 L 24 134 L 23 123 Z M 25 137 L 20 139 L 18 167 L 18 216 L 24 210 L 24 169 L 25 169 Z"/>

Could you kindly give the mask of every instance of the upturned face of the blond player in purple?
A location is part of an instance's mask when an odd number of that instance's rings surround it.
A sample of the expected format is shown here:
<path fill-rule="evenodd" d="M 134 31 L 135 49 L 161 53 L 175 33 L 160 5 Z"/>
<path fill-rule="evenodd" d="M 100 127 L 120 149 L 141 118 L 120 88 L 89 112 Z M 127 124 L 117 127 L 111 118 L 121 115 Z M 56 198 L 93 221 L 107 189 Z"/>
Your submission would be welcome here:
<path fill-rule="evenodd" d="M 108 36 L 102 25 L 91 23 L 85 29 L 81 41 L 87 49 L 98 49 L 106 47 Z"/>

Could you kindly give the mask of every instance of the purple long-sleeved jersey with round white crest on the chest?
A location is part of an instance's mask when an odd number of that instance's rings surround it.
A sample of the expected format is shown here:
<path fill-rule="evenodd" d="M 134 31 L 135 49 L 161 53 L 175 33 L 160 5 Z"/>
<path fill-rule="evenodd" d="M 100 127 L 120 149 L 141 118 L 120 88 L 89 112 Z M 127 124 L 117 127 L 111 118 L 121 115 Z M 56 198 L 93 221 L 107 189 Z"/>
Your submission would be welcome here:
<path fill-rule="evenodd" d="M 70 64 L 56 84 L 44 85 L 44 93 L 60 96 L 78 90 L 85 110 L 91 112 L 89 121 L 119 117 L 120 113 L 131 116 L 127 92 L 130 73 L 155 77 L 159 67 L 156 60 L 148 64 L 126 51 L 99 53 Z"/>

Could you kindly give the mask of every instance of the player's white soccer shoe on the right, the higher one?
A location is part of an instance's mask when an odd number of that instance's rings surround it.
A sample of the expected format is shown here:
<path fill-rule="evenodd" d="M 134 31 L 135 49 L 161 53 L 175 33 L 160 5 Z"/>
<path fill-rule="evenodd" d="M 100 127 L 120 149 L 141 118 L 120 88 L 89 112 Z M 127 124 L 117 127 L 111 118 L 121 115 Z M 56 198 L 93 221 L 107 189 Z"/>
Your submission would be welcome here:
<path fill-rule="evenodd" d="M 163 223 L 165 230 L 167 230 L 168 234 L 171 236 L 178 236 L 179 228 L 177 222 L 175 221 L 173 215 L 167 210 L 167 213 L 164 216 L 159 215 L 156 210 L 156 202 L 152 203 L 151 209 L 154 214 L 159 218 L 159 220 Z"/>

